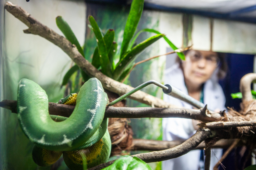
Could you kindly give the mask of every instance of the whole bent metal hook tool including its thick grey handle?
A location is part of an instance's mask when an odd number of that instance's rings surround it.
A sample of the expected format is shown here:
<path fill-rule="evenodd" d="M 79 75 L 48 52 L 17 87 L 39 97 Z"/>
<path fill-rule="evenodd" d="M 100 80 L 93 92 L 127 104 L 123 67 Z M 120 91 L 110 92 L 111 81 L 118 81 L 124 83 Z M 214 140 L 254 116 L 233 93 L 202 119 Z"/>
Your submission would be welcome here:
<path fill-rule="evenodd" d="M 146 87 L 150 84 L 154 84 L 158 87 L 161 87 L 163 89 L 163 92 L 169 96 L 172 96 L 174 98 L 177 98 L 177 99 L 180 99 L 196 108 L 203 108 L 204 107 L 204 104 L 199 102 L 198 100 L 194 99 L 193 97 L 191 96 L 188 96 L 186 94 L 184 94 L 182 91 L 178 90 L 177 88 L 169 85 L 169 84 L 166 84 L 166 85 L 162 85 L 161 83 L 158 83 L 157 81 L 155 80 L 150 80 L 150 81 L 147 81 L 141 85 L 139 85 L 138 87 L 132 89 L 131 91 L 127 92 L 126 94 L 124 94 L 123 96 L 117 98 L 116 100 L 114 100 L 113 102 L 111 102 L 108 106 L 112 106 L 114 104 L 116 104 L 117 102 L 127 98 L 128 96 L 132 95 L 133 93 L 135 93 L 136 91 L 142 89 L 143 87 Z"/>

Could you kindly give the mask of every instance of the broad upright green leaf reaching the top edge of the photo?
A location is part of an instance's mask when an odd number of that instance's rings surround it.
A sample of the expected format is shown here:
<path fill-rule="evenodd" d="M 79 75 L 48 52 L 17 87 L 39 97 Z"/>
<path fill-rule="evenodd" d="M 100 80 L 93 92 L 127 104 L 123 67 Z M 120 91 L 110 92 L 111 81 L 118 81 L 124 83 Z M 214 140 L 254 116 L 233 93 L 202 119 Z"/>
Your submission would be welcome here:
<path fill-rule="evenodd" d="M 131 3 L 130 12 L 125 25 L 124 39 L 121 46 L 120 60 L 124 57 L 127 51 L 130 40 L 133 37 L 134 32 L 140 21 L 143 11 L 144 0 L 133 0 Z"/>

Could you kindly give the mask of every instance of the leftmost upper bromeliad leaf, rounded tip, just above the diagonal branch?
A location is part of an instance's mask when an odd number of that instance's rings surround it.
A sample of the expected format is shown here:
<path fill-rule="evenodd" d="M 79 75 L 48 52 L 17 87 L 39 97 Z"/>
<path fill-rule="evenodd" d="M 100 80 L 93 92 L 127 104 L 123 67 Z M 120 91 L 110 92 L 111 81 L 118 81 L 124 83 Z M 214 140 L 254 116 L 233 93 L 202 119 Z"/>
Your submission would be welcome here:
<path fill-rule="evenodd" d="M 65 35 L 65 37 L 76 46 L 77 50 L 84 56 L 84 52 L 82 50 L 82 47 L 80 46 L 78 40 L 75 37 L 75 34 L 69 27 L 68 23 L 63 20 L 61 16 L 56 17 L 56 24 L 60 31 Z"/>

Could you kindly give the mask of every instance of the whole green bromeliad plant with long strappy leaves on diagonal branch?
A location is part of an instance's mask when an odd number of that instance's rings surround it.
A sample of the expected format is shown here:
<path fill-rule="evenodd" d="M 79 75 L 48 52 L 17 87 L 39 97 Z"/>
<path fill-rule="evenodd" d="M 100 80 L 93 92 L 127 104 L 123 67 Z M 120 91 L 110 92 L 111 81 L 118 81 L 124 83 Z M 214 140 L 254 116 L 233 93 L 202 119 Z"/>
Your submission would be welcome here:
<path fill-rule="evenodd" d="M 109 29 L 105 33 L 105 35 L 103 35 L 94 17 L 88 17 L 91 24 L 90 28 L 94 31 L 98 44 L 98 46 L 94 50 L 91 64 L 97 69 L 101 70 L 103 74 L 119 82 L 122 82 L 133 69 L 133 66 L 135 64 L 134 61 L 136 60 L 138 54 L 140 54 L 145 48 L 153 44 L 158 39 L 163 37 L 173 50 L 177 49 L 177 47 L 174 46 L 164 34 L 161 34 L 160 32 L 153 29 L 143 29 L 139 31 L 132 39 L 142 15 L 143 5 L 144 0 L 132 1 L 124 30 L 124 37 L 122 46 L 120 48 L 119 56 L 115 56 L 117 51 L 117 43 L 114 41 L 115 31 Z M 66 36 L 66 38 L 72 44 L 76 45 L 78 51 L 84 56 L 83 49 L 77 41 L 74 33 L 72 32 L 67 22 L 64 21 L 61 16 L 59 16 L 56 18 L 56 23 L 62 33 Z M 152 32 L 156 33 L 156 35 L 142 41 L 138 45 L 135 45 L 137 37 L 142 32 Z M 177 52 L 177 54 L 182 60 L 185 60 L 185 55 L 182 52 Z M 117 64 L 115 64 L 114 58 L 119 59 Z M 79 67 L 77 65 L 74 65 L 72 68 L 70 68 L 70 70 L 66 73 L 63 79 L 62 85 L 67 84 L 71 75 L 78 69 Z M 89 76 L 82 70 L 81 73 L 84 81 L 87 81 L 89 79 Z"/>

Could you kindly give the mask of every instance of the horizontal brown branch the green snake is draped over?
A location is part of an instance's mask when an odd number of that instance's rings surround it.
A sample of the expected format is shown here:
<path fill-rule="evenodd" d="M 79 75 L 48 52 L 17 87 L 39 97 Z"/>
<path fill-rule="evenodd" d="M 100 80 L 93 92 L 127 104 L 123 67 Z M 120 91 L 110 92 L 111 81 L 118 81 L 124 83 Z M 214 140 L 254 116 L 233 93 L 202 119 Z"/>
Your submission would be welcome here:
<path fill-rule="evenodd" d="M 10 109 L 17 113 L 17 101 L 3 100 L 0 107 Z M 75 106 L 49 102 L 49 114 L 69 117 Z M 109 118 L 165 118 L 177 117 L 196 119 L 201 121 L 216 121 L 202 113 L 202 109 L 186 108 L 152 108 L 152 107 L 106 107 L 105 117 Z"/>

